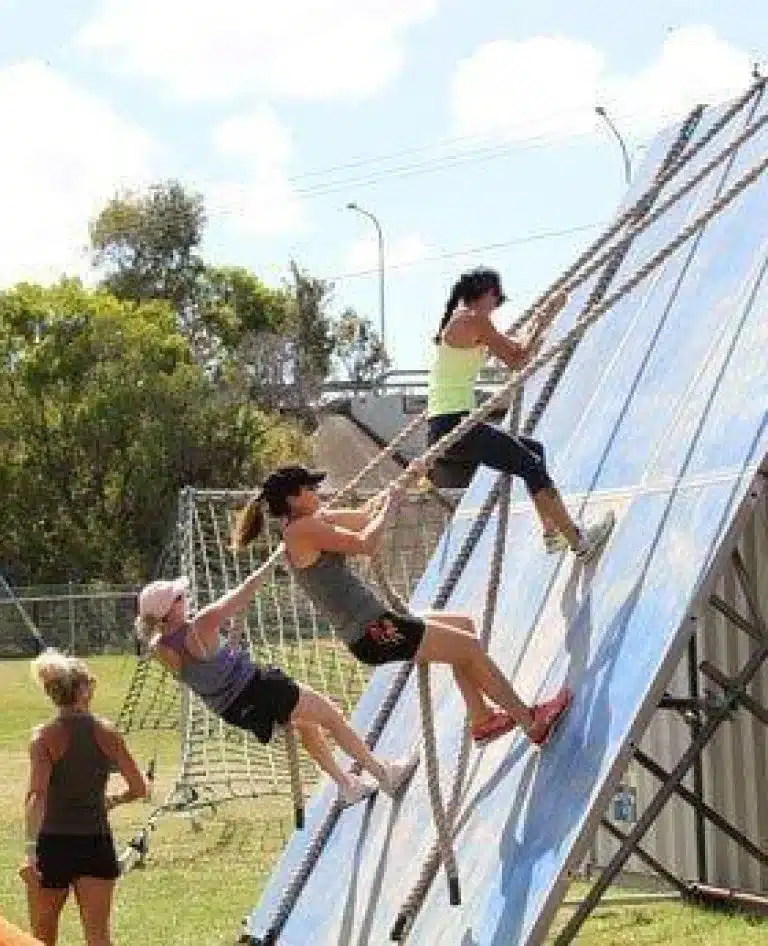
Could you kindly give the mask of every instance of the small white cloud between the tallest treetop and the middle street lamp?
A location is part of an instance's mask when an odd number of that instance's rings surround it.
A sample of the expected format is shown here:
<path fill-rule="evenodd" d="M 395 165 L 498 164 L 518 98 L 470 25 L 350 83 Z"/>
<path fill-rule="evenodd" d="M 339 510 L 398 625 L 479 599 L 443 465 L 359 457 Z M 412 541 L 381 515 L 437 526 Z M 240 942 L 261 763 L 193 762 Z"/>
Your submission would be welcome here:
<path fill-rule="evenodd" d="M 213 129 L 218 153 L 234 159 L 245 183 L 216 183 L 207 189 L 211 214 L 230 215 L 241 232 L 276 236 L 306 226 L 303 202 L 288 176 L 293 142 L 288 128 L 268 106 L 220 122 Z"/>

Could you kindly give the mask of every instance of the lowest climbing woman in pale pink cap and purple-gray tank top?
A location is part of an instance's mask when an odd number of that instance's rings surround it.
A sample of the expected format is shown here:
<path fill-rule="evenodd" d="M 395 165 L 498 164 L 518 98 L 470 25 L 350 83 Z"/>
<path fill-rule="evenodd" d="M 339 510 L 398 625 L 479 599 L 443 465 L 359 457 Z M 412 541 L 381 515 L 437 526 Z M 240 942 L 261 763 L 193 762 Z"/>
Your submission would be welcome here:
<path fill-rule="evenodd" d="M 267 743 L 276 726 L 293 726 L 307 753 L 339 786 L 351 805 L 382 789 L 397 795 L 416 760 L 377 759 L 327 697 L 297 683 L 277 667 L 254 663 L 226 640 L 224 624 L 242 611 L 264 584 L 262 568 L 242 584 L 187 617 L 187 579 L 153 581 L 139 595 L 136 632 L 156 660 L 186 684 L 225 722 Z M 362 776 L 337 763 L 325 733 L 360 764 Z"/>

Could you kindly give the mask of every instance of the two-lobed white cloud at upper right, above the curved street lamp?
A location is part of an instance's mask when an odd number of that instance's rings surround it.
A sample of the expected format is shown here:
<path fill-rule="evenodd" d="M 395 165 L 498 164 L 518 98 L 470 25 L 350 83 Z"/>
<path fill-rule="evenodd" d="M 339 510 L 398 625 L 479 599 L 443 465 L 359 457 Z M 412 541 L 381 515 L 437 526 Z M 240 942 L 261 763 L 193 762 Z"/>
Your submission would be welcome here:
<path fill-rule="evenodd" d="M 622 129 L 647 134 L 694 105 L 740 94 L 750 82 L 747 52 L 710 26 L 667 35 L 659 55 L 634 74 L 612 71 L 600 50 L 564 36 L 481 46 L 454 75 L 452 107 L 462 134 L 565 138 L 597 127 L 595 105 Z"/>

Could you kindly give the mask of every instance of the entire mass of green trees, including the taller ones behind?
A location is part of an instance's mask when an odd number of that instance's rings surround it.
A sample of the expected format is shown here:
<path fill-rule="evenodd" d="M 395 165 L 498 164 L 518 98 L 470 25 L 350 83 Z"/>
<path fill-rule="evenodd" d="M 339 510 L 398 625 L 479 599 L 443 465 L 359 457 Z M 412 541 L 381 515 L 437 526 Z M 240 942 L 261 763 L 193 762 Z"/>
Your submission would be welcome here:
<path fill-rule="evenodd" d="M 291 263 L 266 286 L 201 255 L 201 194 L 178 181 L 116 195 L 90 225 L 97 290 L 0 293 L 0 561 L 21 583 L 133 582 L 151 571 L 178 490 L 236 487 L 306 457 L 342 363 L 384 364 L 364 320 Z"/>

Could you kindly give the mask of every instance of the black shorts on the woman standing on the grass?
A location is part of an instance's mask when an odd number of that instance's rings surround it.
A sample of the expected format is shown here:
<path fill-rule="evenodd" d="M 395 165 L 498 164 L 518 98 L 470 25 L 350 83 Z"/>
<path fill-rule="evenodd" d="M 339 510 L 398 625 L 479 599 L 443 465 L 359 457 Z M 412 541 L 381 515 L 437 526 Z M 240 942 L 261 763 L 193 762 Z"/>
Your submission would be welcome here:
<path fill-rule="evenodd" d="M 111 834 L 41 834 L 37 839 L 40 885 L 67 890 L 79 877 L 116 880 L 115 843 Z"/>

